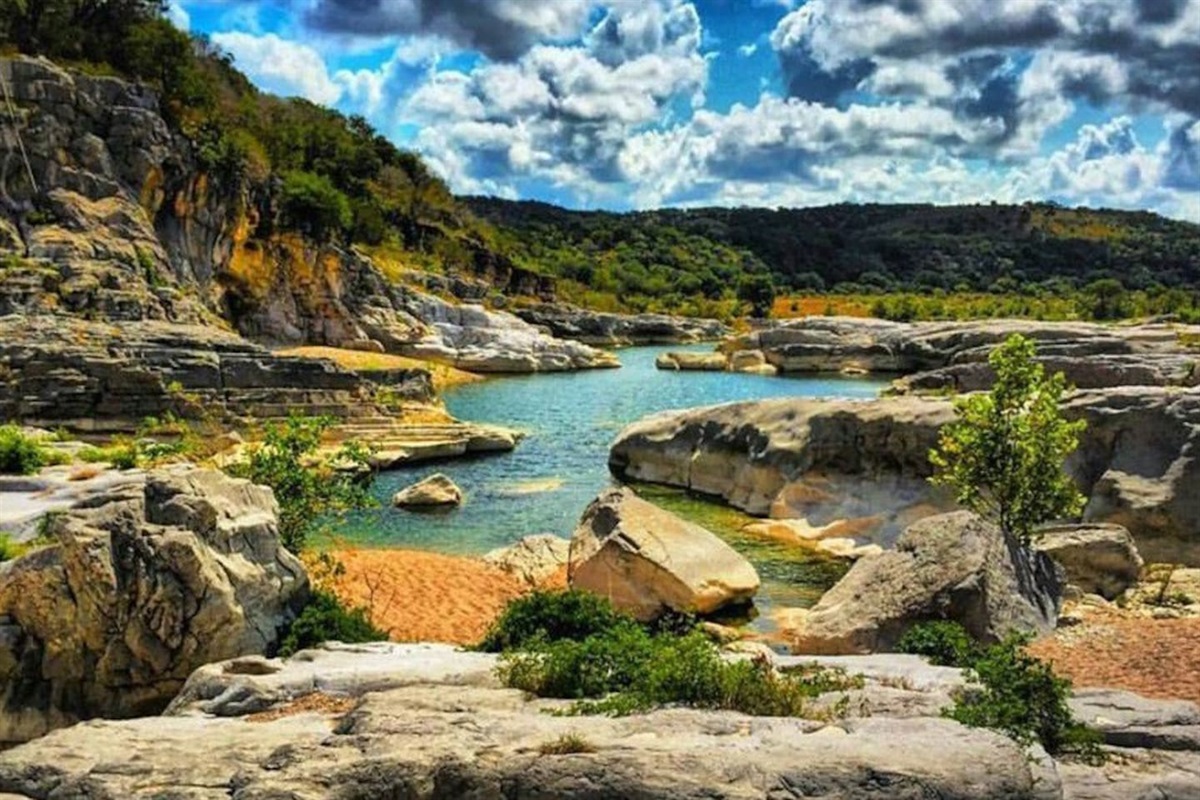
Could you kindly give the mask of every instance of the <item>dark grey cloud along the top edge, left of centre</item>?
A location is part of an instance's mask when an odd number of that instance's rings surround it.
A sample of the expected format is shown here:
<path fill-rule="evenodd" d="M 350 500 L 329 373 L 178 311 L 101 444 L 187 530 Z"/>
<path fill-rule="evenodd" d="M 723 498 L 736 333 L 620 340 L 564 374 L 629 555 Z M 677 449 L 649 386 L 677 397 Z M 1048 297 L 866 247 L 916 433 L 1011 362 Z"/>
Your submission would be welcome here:
<path fill-rule="evenodd" d="M 592 6 L 593 0 L 316 0 L 304 19 L 331 34 L 440 36 L 511 60 L 539 42 L 575 37 Z"/>

